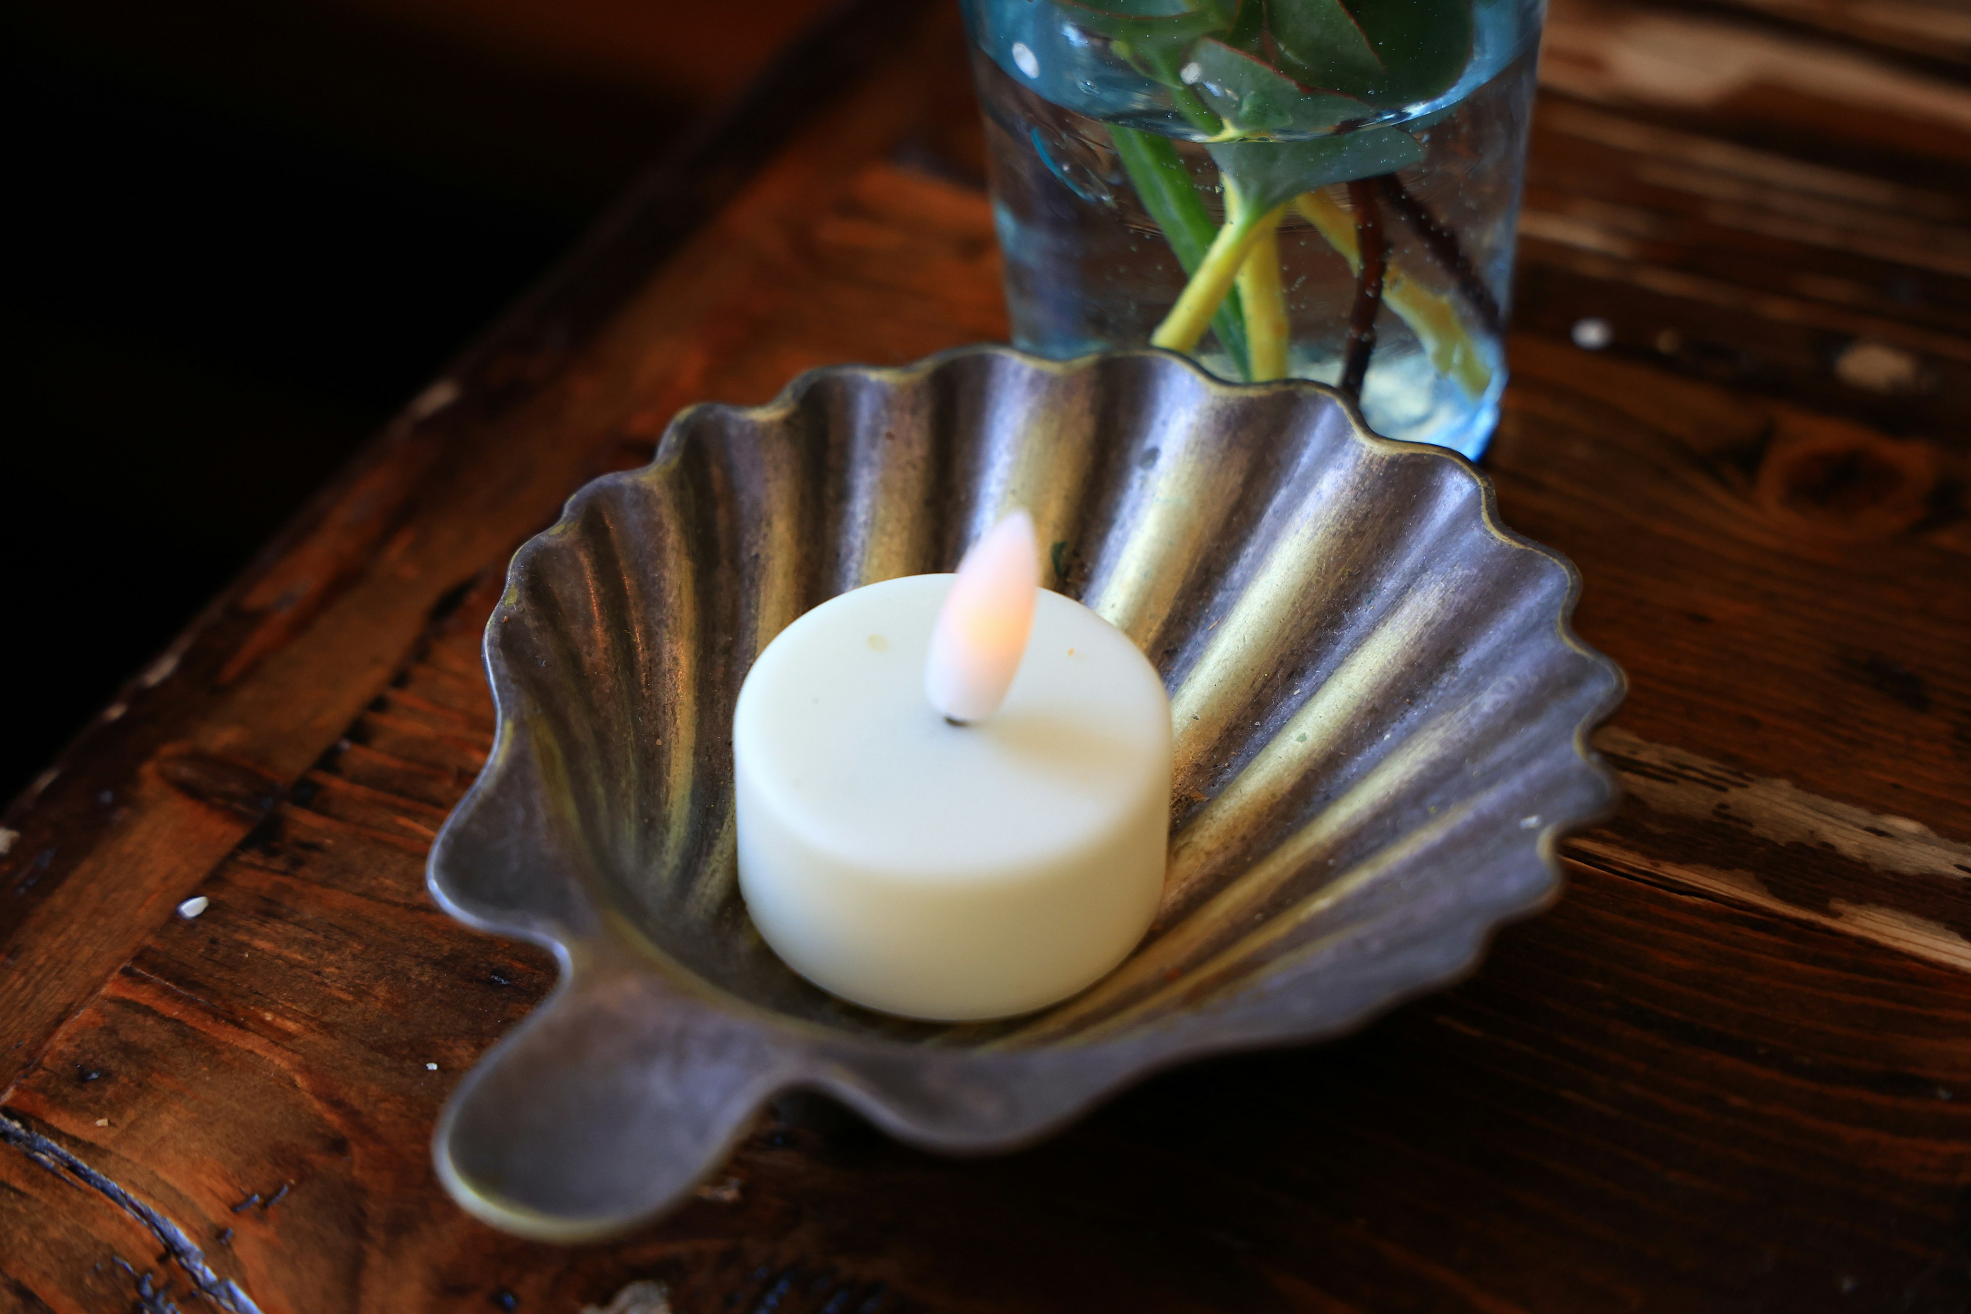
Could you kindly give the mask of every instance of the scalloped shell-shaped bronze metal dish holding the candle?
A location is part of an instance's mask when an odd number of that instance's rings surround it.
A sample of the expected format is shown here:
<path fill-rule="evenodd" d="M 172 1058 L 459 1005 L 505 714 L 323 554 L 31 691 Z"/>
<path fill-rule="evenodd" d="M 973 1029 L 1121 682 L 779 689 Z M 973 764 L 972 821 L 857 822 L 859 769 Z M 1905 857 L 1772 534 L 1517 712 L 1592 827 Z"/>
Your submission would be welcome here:
<path fill-rule="evenodd" d="M 816 603 L 952 569 L 1033 512 L 1053 589 L 1171 691 L 1163 910 L 1082 995 L 989 1024 L 846 1005 L 773 955 L 733 867 L 731 711 Z M 1579 575 L 1461 457 L 1307 382 L 984 347 L 698 406 L 581 489 L 487 624 L 499 735 L 432 851 L 554 995 L 459 1084 L 438 1170 L 479 1217 L 603 1237 L 684 1198 L 763 1101 L 820 1089 L 934 1150 L 1009 1149 L 1216 1050 L 1332 1036 L 1472 969 L 1610 808 L 1622 674 Z"/>

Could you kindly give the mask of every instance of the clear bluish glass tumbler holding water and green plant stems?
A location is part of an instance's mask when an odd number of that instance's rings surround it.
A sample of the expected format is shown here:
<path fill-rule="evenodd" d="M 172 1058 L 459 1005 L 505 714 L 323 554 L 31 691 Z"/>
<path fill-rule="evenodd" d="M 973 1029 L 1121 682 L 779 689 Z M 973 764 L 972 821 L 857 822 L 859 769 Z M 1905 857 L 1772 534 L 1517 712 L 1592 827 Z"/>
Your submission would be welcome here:
<path fill-rule="evenodd" d="M 1013 341 L 1317 378 L 1476 457 L 1543 0 L 964 0 Z"/>

